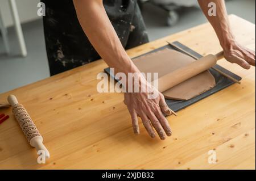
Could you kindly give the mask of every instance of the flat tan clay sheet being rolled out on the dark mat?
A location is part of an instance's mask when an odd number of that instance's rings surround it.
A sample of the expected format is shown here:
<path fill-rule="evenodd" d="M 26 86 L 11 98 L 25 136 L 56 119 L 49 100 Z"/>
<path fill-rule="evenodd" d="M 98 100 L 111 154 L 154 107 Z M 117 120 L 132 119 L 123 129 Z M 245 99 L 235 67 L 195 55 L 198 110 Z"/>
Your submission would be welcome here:
<path fill-rule="evenodd" d="M 172 49 L 163 49 L 135 58 L 134 64 L 143 73 L 158 73 L 159 78 L 174 70 L 196 61 L 183 53 Z M 153 77 L 153 76 L 152 76 Z M 206 70 L 187 81 L 163 92 L 167 99 L 188 100 L 212 89 L 216 85 L 213 75 Z M 160 87 L 161 85 L 159 85 Z"/>

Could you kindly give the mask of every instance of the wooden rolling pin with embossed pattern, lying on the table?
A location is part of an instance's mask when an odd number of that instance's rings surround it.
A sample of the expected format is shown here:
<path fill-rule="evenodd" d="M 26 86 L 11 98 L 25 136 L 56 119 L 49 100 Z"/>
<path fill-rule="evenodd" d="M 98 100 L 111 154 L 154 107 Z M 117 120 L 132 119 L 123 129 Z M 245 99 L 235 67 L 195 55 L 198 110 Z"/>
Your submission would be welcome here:
<path fill-rule="evenodd" d="M 49 151 L 46 146 L 43 145 L 43 137 L 39 133 L 38 128 L 36 128 L 36 125 L 32 121 L 30 115 L 28 115 L 26 109 L 22 104 L 18 103 L 18 100 L 14 95 L 9 95 L 8 101 L 13 107 L 13 114 L 30 145 L 35 147 L 37 151 L 43 150 L 46 158 L 49 158 Z"/>

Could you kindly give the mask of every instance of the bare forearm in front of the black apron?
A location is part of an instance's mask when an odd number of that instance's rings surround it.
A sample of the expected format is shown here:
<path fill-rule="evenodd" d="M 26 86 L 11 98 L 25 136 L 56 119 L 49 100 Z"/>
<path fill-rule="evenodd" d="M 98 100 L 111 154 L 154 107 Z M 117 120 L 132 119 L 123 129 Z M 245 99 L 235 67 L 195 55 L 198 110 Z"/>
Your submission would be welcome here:
<path fill-rule="evenodd" d="M 115 73 L 139 72 L 123 49 L 102 0 L 73 0 L 77 18 L 90 43 Z"/>

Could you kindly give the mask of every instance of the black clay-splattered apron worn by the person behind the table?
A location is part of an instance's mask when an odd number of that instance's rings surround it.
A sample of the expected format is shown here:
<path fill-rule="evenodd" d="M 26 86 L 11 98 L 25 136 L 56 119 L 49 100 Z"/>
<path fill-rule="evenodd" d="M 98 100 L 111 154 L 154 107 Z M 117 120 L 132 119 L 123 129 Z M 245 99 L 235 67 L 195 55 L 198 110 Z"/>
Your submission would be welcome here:
<path fill-rule="evenodd" d="M 46 5 L 43 22 L 51 75 L 98 60 L 100 56 L 82 31 L 73 1 L 42 0 L 42 2 Z M 137 1 L 104 0 L 103 2 L 124 48 L 129 49 L 148 42 Z"/>

